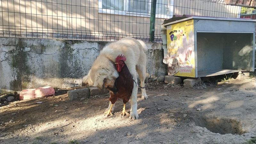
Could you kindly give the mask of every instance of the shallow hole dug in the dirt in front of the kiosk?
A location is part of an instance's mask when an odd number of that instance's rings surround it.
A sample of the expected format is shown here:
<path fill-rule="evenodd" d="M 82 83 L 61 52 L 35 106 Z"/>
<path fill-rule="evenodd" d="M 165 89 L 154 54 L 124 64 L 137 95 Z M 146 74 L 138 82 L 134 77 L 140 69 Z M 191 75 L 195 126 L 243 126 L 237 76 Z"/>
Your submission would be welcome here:
<path fill-rule="evenodd" d="M 209 131 L 220 134 L 244 134 L 242 125 L 239 121 L 230 118 L 220 117 L 199 117 L 194 118 L 194 122 L 197 126 L 205 127 Z"/>

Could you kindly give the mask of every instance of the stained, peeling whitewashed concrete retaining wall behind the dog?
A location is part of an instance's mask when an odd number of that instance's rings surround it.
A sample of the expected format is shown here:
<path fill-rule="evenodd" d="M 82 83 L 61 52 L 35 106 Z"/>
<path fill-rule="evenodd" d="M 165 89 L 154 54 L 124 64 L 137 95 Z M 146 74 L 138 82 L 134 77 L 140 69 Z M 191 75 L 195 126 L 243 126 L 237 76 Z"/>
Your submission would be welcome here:
<path fill-rule="evenodd" d="M 109 42 L 0 38 L 0 88 L 81 86 L 100 50 Z M 166 74 L 162 44 L 147 43 L 147 76 Z"/>

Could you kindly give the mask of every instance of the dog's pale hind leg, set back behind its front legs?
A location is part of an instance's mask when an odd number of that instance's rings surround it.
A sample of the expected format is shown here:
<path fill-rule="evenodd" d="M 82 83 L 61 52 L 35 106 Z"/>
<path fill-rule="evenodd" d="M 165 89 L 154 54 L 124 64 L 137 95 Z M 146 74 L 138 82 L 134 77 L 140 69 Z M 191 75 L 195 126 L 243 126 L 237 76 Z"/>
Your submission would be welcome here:
<path fill-rule="evenodd" d="M 142 64 L 140 66 L 136 66 L 136 71 L 140 77 L 140 86 L 145 87 L 145 79 L 146 79 L 146 64 Z M 141 99 L 148 99 L 148 95 L 146 93 L 146 89 L 141 89 Z"/>

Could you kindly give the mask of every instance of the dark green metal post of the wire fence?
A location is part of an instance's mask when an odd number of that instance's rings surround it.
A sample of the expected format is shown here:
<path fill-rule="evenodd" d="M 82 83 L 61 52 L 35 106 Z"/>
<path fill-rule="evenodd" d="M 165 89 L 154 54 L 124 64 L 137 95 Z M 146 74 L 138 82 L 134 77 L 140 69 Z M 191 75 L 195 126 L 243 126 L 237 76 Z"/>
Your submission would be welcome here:
<path fill-rule="evenodd" d="M 155 39 L 155 20 L 156 20 L 156 0 L 151 0 L 150 29 L 149 29 L 150 42 L 154 42 L 154 39 Z"/>

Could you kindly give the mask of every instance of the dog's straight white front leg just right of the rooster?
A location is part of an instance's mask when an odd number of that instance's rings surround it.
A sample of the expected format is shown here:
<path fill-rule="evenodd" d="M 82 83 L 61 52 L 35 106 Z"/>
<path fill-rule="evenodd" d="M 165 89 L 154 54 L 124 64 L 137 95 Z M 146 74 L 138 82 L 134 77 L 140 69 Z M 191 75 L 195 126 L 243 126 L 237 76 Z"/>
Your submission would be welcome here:
<path fill-rule="evenodd" d="M 135 78 L 135 80 L 137 81 L 136 78 Z M 131 96 L 131 114 L 129 116 L 129 118 L 131 118 L 132 120 L 135 120 L 135 119 L 139 118 L 139 115 L 138 115 L 138 112 L 137 112 L 137 94 L 138 94 L 138 87 L 134 83 L 133 84 L 133 89 L 132 89 L 132 96 Z"/>

